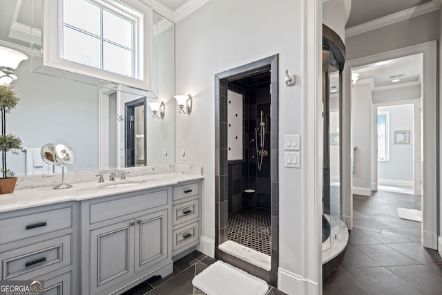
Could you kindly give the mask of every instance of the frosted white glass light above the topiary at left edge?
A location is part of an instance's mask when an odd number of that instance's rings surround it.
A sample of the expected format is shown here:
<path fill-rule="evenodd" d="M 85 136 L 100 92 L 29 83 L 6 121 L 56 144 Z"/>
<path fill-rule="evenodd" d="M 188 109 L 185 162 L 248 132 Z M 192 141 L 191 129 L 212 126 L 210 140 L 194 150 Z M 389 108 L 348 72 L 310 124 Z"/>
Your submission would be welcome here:
<path fill-rule="evenodd" d="M 17 79 L 17 76 L 12 73 L 25 59 L 28 57 L 23 53 L 0 46 L 0 85 L 9 85 Z"/>

